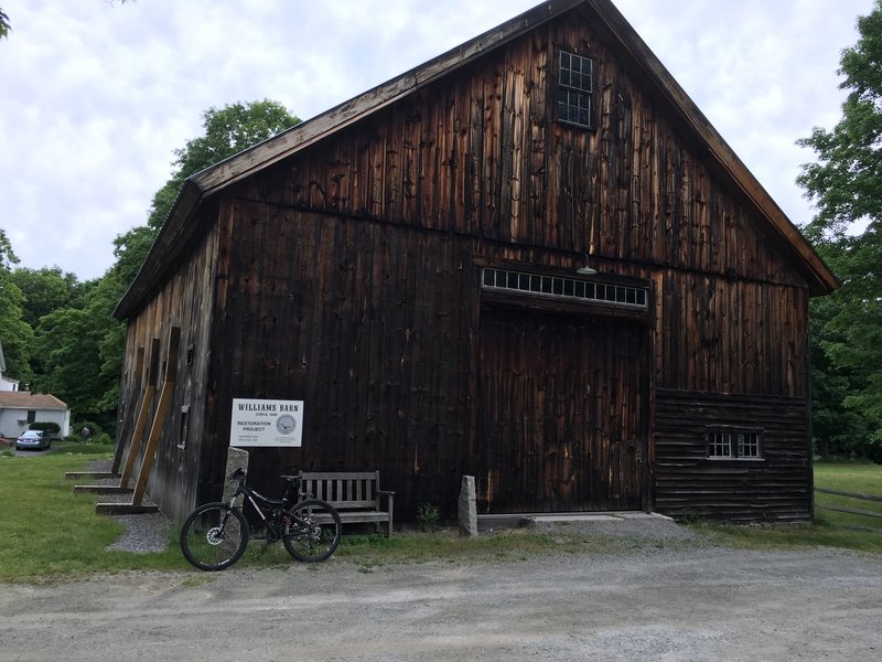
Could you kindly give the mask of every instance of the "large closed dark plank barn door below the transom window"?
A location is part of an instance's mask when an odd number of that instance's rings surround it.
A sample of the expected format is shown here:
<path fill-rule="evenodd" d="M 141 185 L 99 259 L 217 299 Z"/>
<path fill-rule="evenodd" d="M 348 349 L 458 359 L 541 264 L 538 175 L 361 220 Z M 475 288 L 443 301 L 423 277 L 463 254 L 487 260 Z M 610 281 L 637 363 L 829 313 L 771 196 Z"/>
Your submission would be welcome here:
<path fill-rule="evenodd" d="M 482 310 L 480 512 L 641 508 L 644 337 L 630 321 Z"/>

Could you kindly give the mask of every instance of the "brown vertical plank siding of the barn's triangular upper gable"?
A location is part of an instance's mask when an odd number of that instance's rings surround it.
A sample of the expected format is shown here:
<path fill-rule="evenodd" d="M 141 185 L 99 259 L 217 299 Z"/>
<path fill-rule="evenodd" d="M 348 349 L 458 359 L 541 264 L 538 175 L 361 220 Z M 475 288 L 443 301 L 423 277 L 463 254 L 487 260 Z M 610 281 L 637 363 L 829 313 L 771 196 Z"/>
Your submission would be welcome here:
<path fill-rule="evenodd" d="M 553 120 L 555 54 L 596 58 L 598 127 Z M 538 28 L 283 161 L 243 196 L 634 264 L 802 286 L 583 21 Z"/>

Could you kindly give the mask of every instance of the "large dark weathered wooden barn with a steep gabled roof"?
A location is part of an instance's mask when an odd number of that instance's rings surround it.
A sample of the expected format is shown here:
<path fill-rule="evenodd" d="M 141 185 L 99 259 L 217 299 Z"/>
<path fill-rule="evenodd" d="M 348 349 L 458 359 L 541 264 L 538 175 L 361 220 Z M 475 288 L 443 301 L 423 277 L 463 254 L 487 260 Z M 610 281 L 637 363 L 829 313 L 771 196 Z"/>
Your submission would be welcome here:
<path fill-rule="evenodd" d="M 478 513 L 805 520 L 837 287 L 613 4 L 550 0 L 187 180 L 116 310 L 118 448 L 171 370 L 176 519 L 252 398 L 303 402 L 300 447 L 250 449 L 268 492 L 376 469 L 402 520 L 465 474 Z"/>

